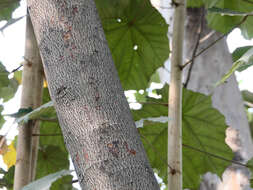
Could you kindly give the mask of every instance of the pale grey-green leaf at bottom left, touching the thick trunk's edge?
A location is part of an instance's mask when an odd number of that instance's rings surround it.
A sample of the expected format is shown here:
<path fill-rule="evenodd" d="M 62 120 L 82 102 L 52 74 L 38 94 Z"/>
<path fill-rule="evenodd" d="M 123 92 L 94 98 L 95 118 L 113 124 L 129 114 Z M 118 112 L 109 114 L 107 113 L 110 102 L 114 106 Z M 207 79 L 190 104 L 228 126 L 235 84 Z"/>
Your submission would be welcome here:
<path fill-rule="evenodd" d="M 70 173 L 71 173 L 70 170 L 61 170 L 59 172 L 50 174 L 48 176 L 45 176 L 41 179 L 38 179 L 38 180 L 26 185 L 25 187 L 22 188 L 22 190 L 35 190 L 35 189 L 36 190 L 45 190 L 45 189 L 49 189 L 54 181 L 61 178 L 62 176 L 69 175 Z"/>

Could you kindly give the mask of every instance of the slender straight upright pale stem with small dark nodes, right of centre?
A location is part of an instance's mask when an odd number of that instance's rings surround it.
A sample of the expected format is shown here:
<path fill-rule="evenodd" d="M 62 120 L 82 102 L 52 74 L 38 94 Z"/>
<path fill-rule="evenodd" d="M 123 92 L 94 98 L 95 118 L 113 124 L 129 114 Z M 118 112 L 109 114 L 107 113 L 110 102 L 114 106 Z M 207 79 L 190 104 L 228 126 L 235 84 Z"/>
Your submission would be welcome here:
<path fill-rule="evenodd" d="M 185 0 L 175 1 L 168 122 L 168 189 L 181 190 L 182 182 L 182 69 Z"/>

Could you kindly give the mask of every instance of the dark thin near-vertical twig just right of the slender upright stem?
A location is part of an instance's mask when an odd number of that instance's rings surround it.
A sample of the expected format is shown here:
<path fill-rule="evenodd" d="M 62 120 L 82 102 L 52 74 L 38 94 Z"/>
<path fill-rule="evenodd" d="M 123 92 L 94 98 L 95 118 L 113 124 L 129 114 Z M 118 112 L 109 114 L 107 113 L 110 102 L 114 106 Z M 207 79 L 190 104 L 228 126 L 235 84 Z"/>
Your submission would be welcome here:
<path fill-rule="evenodd" d="M 199 27 L 198 27 L 198 36 L 197 36 L 197 41 L 196 41 L 196 44 L 195 44 L 195 47 L 193 49 L 193 52 L 192 52 L 192 63 L 190 64 L 190 67 L 189 67 L 189 70 L 188 70 L 188 74 L 187 74 L 187 78 L 186 78 L 186 81 L 184 83 L 184 87 L 187 88 L 188 84 L 189 84 L 189 81 L 190 81 L 190 78 L 191 78 L 191 73 L 192 73 L 192 68 L 193 68 L 193 65 L 194 65 L 194 61 L 195 61 L 195 56 L 196 56 L 196 53 L 197 53 L 197 50 L 198 50 L 198 47 L 199 47 L 199 42 L 200 42 L 200 37 L 201 37 L 201 33 L 202 33 L 202 30 L 203 30 L 203 25 L 204 25 L 204 9 L 202 8 L 201 9 L 201 14 L 200 14 L 200 21 L 199 21 Z"/>

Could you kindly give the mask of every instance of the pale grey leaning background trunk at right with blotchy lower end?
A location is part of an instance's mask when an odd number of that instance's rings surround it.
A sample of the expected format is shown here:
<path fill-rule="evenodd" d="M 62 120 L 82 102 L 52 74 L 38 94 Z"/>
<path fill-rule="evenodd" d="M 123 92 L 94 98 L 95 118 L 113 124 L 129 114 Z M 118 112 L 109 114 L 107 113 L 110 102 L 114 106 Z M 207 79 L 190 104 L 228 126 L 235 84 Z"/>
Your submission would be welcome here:
<path fill-rule="evenodd" d="M 188 60 L 192 59 L 200 20 L 201 10 L 188 8 L 185 33 L 185 58 Z M 205 21 L 201 37 L 211 34 L 211 32 L 212 30 L 207 27 Z M 219 36 L 219 33 L 213 32 L 209 38 L 199 44 L 198 51 L 207 47 Z M 235 76 L 233 75 L 225 84 L 218 88 L 213 88 L 214 84 L 221 79 L 231 65 L 231 54 L 228 51 L 226 39 L 224 38 L 194 60 L 187 87 L 204 94 L 212 94 L 213 106 L 225 116 L 226 122 L 230 126 L 226 131 L 226 143 L 235 152 L 234 160 L 246 163 L 253 155 L 252 140 L 242 96 Z M 187 75 L 189 75 L 188 70 L 185 71 L 185 79 Z M 208 189 L 208 187 L 213 187 L 212 189 L 214 190 L 248 189 L 249 177 L 247 168 L 232 164 L 223 173 L 222 181 L 217 180 L 216 184 L 214 183 L 214 178 L 204 176 L 200 189 L 204 190 Z"/>

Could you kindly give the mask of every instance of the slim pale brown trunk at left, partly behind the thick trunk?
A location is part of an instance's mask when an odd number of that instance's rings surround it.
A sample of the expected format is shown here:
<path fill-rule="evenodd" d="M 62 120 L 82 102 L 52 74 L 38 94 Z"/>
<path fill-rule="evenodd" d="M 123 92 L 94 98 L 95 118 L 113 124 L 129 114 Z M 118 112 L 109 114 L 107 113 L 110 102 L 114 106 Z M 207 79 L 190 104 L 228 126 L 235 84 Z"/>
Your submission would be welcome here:
<path fill-rule="evenodd" d="M 27 16 L 26 23 L 21 108 L 36 108 L 42 102 L 43 67 L 29 16 Z M 39 123 L 37 121 L 29 121 L 27 124 L 19 126 L 14 190 L 20 190 L 34 179 L 38 138 L 32 139 L 32 133 L 33 131 L 38 133 L 38 130 Z"/>

